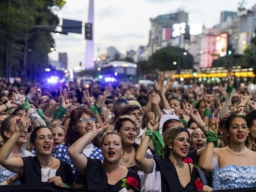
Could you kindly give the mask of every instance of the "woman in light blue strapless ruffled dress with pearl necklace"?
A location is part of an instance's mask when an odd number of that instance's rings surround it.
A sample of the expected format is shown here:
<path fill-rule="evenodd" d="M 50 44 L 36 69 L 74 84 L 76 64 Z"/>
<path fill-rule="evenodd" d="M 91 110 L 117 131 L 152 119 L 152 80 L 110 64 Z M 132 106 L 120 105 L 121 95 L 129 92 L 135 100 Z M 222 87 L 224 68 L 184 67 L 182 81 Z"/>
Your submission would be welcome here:
<path fill-rule="evenodd" d="M 256 152 L 245 147 L 249 133 L 242 115 L 231 115 L 225 123 L 229 144 L 215 148 L 216 140 L 207 137 L 207 146 L 198 165 L 205 172 L 213 171 L 213 190 L 249 188 L 256 186 Z"/>

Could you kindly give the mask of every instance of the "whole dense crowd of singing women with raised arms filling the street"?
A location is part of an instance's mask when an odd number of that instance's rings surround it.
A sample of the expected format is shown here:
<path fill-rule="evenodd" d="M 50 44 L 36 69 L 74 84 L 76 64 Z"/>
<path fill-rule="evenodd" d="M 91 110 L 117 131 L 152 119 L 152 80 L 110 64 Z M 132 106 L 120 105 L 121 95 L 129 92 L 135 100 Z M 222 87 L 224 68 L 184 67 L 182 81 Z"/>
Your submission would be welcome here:
<path fill-rule="evenodd" d="M 89 88 L 75 81 L 58 88 L 1 82 L 1 185 L 254 188 L 256 93 L 235 89 L 231 70 L 214 89 L 164 79 L 140 90 L 99 82 Z M 152 179 L 160 182 L 147 182 Z"/>

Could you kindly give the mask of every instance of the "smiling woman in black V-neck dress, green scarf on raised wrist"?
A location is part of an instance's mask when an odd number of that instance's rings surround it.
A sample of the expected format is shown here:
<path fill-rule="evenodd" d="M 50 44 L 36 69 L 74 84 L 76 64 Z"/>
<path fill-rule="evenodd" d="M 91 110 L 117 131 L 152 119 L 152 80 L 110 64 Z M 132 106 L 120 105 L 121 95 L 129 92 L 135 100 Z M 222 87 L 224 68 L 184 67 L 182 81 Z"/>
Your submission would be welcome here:
<path fill-rule="evenodd" d="M 189 152 L 189 132 L 186 128 L 169 128 L 164 132 L 164 157 L 147 159 L 145 153 L 152 133 L 158 128 L 158 119 L 148 122 L 148 130 L 140 144 L 135 160 L 140 169 L 145 173 L 151 173 L 153 167 L 161 172 L 162 191 L 211 191 L 198 180 L 199 175 L 193 164 L 182 161 Z M 200 185 L 198 185 L 200 184 Z"/>

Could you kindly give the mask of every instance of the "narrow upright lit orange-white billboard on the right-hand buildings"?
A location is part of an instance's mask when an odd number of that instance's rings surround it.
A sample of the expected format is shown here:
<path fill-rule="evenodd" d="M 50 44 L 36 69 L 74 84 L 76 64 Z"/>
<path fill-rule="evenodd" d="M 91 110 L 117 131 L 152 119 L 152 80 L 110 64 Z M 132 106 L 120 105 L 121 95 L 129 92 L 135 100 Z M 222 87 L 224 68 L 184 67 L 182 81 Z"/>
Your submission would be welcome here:
<path fill-rule="evenodd" d="M 224 57 L 228 51 L 228 33 L 221 33 L 216 37 L 216 51 L 220 57 Z"/>

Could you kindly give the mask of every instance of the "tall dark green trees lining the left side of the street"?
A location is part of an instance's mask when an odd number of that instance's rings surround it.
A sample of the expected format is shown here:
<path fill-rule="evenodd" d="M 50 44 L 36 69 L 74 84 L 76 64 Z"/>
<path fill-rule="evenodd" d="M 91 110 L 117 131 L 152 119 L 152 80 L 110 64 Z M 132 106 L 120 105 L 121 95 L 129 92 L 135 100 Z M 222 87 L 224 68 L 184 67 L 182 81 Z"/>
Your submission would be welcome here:
<path fill-rule="evenodd" d="M 48 52 L 54 46 L 54 27 L 48 26 L 59 23 L 53 9 L 61 9 L 64 4 L 62 0 L 0 1 L 1 76 L 40 78 L 38 74 L 48 65 Z"/>

